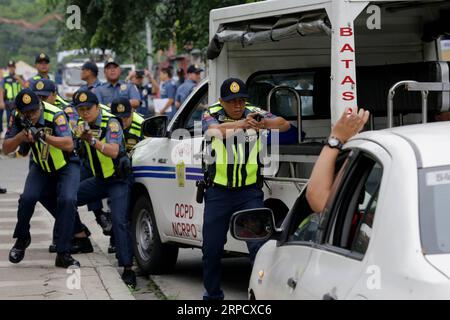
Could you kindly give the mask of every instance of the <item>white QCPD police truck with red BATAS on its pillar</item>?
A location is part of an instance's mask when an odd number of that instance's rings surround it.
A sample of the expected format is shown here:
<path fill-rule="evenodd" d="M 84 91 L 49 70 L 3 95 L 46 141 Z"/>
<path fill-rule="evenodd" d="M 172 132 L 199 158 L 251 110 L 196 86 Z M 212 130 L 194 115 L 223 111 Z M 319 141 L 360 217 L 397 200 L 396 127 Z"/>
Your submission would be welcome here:
<path fill-rule="evenodd" d="M 427 122 L 431 113 L 449 109 L 449 65 L 440 61 L 438 46 L 449 31 L 449 7 L 438 0 L 272 0 L 211 11 L 208 80 L 170 123 L 146 120 L 151 138 L 133 152 L 132 227 L 140 268 L 169 272 L 178 248 L 201 248 L 199 121 L 223 80 L 243 79 L 252 104 L 298 129 L 298 141 L 279 146 L 274 170 L 265 175 L 265 205 L 279 226 L 345 108 L 369 109 L 369 130 Z M 231 236 L 225 250 L 247 252 Z"/>

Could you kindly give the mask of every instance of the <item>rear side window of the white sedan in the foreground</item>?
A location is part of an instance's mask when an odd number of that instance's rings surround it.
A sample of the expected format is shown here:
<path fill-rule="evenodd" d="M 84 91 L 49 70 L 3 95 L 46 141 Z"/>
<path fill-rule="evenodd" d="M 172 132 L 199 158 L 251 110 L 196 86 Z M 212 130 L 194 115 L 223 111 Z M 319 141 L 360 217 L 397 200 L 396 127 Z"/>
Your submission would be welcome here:
<path fill-rule="evenodd" d="M 364 255 L 375 217 L 382 167 L 371 156 L 360 153 L 337 191 L 327 244 Z"/>

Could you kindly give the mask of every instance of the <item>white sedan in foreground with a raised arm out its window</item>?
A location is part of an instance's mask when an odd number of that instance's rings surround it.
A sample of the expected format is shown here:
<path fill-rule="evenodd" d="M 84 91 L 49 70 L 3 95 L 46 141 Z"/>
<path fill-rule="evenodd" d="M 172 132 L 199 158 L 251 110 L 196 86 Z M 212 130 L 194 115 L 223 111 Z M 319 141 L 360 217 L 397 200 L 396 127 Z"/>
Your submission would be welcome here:
<path fill-rule="evenodd" d="M 233 236 L 272 239 L 249 297 L 449 299 L 449 141 L 448 122 L 362 133 L 345 145 L 320 218 L 304 193 L 280 229 L 268 209 L 236 213 Z"/>

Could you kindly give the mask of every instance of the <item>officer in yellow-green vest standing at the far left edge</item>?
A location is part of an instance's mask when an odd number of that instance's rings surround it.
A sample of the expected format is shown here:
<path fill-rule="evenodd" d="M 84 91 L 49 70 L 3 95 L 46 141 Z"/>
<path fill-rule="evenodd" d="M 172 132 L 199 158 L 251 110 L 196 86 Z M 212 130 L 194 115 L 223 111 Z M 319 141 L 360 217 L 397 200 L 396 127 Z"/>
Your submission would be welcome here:
<path fill-rule="evenodd" d="M 16 74 L 16 63 L 8 62 L 8 75 L 0 83 L 0 133 L 3 131 L 3 110 L 6 109 L 6 119 L 9 121 L 14 110 L 14 99 L 24 85 L 21 76 Z"/>

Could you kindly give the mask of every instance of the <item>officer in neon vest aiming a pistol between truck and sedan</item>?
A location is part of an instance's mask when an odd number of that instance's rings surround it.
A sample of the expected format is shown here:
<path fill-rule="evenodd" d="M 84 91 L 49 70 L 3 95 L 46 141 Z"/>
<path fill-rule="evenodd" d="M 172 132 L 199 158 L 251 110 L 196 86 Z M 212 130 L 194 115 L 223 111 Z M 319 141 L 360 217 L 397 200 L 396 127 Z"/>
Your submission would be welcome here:
<path fill-rule="evenodd" d="M 246 104 L 247 98 L 247 88 L 241 80 L 227 79 L 220 88 L 219 103 L 210 106 L 202 118 L 209 152 L 216 158 L 207 164 L 205 173 L 208 186 L 202 247 L 205 300 L 224 298 L 220 288 L 220 260 L 232 214 L 264 207 L 258 162 L 262 142 L 258 132 L 262 129 L 286 131 L 290 127 L 283 118 Z M 257 115 L 262 117 L 259 122 Z M 234 163 L 234 159 L 239 162 Z M 260 245 L 247 243 L 252 261 Z"/>

